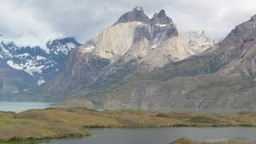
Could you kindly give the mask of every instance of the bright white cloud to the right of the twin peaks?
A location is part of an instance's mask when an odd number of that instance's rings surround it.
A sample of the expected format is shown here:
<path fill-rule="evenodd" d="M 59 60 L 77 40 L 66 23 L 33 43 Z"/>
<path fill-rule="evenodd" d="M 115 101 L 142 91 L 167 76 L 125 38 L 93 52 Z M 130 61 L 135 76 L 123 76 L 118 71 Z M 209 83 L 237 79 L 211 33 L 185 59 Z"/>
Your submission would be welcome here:
<path fill-rule="evenodd" d="M 214 38 L 224 38 L 234 26 L 256 14 L 254 0 L 180 0 L 166 7 L 181 29 L 206 30 Z"/>

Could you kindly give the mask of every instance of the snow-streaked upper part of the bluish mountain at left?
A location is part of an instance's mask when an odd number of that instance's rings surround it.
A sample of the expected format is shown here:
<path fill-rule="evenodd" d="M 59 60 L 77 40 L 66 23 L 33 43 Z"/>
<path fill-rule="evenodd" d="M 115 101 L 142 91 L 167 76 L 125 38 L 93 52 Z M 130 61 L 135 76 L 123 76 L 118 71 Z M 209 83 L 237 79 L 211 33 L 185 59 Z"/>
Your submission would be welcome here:
<path fill-rule="evenodd" d="M 0 58 L 14 69 L 24 70 L 41 85 L 63 69 L 68 52 L 80 45 L 74 38 L 56 39 L 46 43 L 46 51 L 39 46 L 21 47 L 14 42 L 1 42 Z"/>

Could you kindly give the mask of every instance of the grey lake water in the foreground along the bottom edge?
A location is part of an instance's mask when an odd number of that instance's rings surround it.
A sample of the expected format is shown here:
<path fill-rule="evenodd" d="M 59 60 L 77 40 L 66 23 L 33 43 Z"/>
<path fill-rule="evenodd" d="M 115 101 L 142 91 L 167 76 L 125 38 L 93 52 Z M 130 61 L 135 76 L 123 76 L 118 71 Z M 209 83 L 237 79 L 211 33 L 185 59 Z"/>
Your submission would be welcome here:
<path fill-rule="evenodd" d="M 42 144 L 168 144 L 182 137 L 194 141 L 224 141 L 230 139 L 256 141 L 256 128 L 146 128 L 90 130 L 89 138 L 42 142 Z"/>

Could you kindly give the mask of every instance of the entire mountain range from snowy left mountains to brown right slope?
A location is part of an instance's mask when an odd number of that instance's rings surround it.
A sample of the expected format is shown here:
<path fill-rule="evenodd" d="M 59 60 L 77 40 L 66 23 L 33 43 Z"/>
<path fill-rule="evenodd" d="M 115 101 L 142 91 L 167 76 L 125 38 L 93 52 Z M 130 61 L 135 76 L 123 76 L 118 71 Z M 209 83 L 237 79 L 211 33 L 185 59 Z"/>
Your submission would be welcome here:
<path fill-rule="evenodd" d="M 97 109 L 254 109 L 255 19 L 217 42 L 179 31 L 165 10 L 149 18 L 135 7 L 82 45 L 57 39 L 43 51 L 2 42 L 0 97 Z"/>

